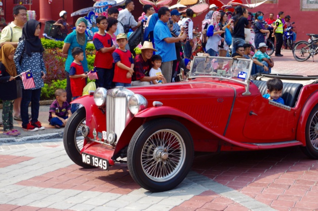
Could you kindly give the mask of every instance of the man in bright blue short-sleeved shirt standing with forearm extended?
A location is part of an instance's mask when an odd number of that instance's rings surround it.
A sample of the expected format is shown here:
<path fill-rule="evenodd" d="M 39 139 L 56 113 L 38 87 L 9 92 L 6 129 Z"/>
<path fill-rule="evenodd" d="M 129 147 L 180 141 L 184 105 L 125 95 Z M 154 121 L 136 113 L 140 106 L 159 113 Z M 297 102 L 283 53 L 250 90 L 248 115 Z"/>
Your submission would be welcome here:
<path fill-rule="evenodd" d="M 163 58 L 161 70 L 167 82 L 171 82 L 173 60 L 177 59 L 175 44 L 179 40 L 186 38 L 185 34 L 178 37 L 172 37 L 167 26 L 170 18 L 170 10 L 167 7 L 162 7 L 158 10 L 159 20 L 154 26 L 153 38 L 155 43 L 155 54 Z"/>

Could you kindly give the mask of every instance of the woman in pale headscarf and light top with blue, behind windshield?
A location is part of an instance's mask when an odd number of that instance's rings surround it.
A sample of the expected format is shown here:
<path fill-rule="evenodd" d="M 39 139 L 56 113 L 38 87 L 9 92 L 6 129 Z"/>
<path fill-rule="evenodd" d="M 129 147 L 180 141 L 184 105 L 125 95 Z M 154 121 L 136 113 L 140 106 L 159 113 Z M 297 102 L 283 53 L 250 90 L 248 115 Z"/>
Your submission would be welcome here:
<path fill-rule="evenodd" d="M 221 37 L 221 34 L 224 33 L 223 30 L 220 30 L 219 22 L 221 19 L 221 14 L 219 11 L 215 11 L 212 15 L 211 23 L 208 26 L 207 30 L 207 53 L 210 56 L 217 56 L 218 46 L 220 41 L 224 41 L 224 38 Z"/>

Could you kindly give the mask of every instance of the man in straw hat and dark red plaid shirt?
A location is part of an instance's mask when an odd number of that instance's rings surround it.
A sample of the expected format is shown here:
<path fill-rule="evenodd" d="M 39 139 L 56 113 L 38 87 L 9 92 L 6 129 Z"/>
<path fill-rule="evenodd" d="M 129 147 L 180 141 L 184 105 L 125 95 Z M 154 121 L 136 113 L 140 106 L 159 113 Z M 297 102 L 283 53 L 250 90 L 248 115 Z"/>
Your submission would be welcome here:
<path fill-rule="evenodd" d="M 151 69 L 151 57 L 153 51 L 156 51 L 152 43 L 144 41 L 144 44 L 141 48 L 141 54 L 137 55 L 134 58 L 134 73 L 132 76 L 131 85 L 136 86 L 147 86 L 150 85 L 152 80 L 162 80 L 164 75 L 149 76 L 149 71 Z"/>

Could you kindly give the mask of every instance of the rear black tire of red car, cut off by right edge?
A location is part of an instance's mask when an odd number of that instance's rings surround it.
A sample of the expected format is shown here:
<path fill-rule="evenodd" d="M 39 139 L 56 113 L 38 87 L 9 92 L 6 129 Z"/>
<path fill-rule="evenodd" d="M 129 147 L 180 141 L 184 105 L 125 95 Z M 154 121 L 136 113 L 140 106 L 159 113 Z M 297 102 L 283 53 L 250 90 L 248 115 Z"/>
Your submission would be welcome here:
<path fill-rule="evenodd" d="M 306 146 L 302 151 L 312 159 L 318 159 L 318 105 L 311 110 L 306 122 Z"/>

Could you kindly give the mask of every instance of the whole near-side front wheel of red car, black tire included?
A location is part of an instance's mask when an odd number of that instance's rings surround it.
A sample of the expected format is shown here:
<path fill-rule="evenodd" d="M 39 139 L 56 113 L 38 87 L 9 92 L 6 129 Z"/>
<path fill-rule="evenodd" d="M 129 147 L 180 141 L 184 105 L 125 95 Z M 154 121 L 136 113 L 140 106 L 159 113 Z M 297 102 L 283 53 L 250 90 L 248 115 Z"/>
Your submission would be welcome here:
<path fill-rule="evenodd" d="M 184 180 L 193 156 L 192 137 L 183 124 L 168 118 L 154 119 L 134 134 L 127 164 L 136 183 L 149 191 L 161 192 Z"/>

